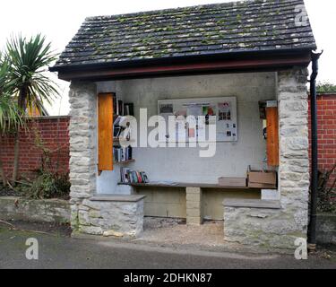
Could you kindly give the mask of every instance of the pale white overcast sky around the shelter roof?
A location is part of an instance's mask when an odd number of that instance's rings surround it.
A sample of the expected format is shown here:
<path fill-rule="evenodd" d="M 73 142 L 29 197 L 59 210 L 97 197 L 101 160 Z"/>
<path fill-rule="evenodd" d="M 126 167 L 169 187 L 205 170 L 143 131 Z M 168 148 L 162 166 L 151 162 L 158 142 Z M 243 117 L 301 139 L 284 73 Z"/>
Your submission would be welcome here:
<path fill-rule="evenodd" d="M 11 35 L 22 33 L 31 36 L 42 33 L 53 49 L 60 53 L 73 38 L 84 19 L 88 16 L 134 13 L 196 4 L 214 4 L 231 0 L 57 0 L 51 4 L 46 0 L 4 0 L 0 16 L 0 49 Z M 336 37 L 334 17 L 335 0 L 305 0 L 306 10 L 312 24 L 319 49 L 323 49 L 318 80 L 336 83 Z M 4 12 L 9 13 L 4 13 Z M 46 108 L 50 115 L 66 115 L 69 112 L 68 83 L 59 81 L 61 97 Z"/>

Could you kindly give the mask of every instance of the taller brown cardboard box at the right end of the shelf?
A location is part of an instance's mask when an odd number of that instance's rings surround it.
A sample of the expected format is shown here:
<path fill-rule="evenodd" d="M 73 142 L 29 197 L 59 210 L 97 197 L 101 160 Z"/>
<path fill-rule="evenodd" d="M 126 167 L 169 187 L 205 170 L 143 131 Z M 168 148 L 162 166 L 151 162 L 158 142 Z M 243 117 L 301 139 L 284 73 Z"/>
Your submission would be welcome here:
<path fill-rule="evenodd" d="M 248 187 L 254 188 L 276 188 L 276 171 L 250 170 L 247 172 Z"/>

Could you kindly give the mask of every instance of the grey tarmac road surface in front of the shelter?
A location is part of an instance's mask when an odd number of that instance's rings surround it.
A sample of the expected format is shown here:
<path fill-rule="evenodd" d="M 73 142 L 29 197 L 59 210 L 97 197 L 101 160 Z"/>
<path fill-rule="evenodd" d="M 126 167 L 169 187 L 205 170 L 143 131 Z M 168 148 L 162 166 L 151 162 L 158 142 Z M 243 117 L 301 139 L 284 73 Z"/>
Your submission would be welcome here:
<path fill-rule="evenodd" d="M 68 229 L 39 224 L 16 223 L 24 230 L 44 230 L 52 234 L 11 230 L 0 224 L 0 268 L 332 268 L 336 252 L 321 251 L 309 260 L 297 261 L 289 255 L 252 255 L 200 251 L 198 248 L 159 247 L 139 242 L 72 239 Z M 39 240 L 39 260 L 27 260 L 26 239 Z"/>

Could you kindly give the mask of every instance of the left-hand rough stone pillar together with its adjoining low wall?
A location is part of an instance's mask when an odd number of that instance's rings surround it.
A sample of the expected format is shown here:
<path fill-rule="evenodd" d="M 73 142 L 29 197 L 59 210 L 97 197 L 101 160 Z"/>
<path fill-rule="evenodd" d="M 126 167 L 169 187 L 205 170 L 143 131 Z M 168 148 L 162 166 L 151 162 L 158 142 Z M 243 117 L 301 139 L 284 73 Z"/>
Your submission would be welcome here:
<path fill-rule="evenodd" d="M 143 228 L 144 196 L 96 196 L 97 89 L 72 83 L 70 89 L 70 181 L 73 231 L 137 237 Z"/>

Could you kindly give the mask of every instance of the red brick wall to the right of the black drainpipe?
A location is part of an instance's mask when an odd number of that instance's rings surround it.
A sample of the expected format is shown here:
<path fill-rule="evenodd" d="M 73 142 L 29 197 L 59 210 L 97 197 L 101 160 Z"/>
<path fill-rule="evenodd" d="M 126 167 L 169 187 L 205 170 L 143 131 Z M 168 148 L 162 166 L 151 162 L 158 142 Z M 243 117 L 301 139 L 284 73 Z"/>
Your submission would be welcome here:
<path fill-rule="evenodd" d="M 319 170 L 331 170 L 336 163 L 336 94 L 317 97 L 317 118 Z M 309 139 L 310 137 L 309 110 Z M 332 180 L 335 177 L 334 173 Z"/>

